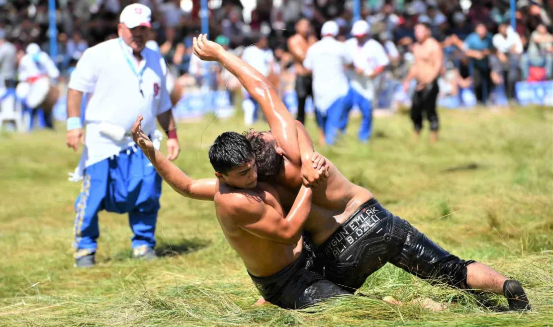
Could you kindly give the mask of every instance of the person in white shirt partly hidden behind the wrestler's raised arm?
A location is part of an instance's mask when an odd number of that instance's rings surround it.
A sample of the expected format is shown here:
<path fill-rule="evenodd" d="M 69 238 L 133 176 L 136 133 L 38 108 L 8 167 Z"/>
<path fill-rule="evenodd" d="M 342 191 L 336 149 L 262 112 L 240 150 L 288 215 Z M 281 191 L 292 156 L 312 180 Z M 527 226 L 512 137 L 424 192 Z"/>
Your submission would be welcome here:
<path fill-rule="evenodd" d="M 273 51 L 267 48 L 268 41 L 264 35 L 259 35 L 257 43 L 248 46 L 242 52 L 242 60 L 251 65 L 255 70 L 259 71 L 263 76 L 269 77 L 273 73 Z M 251 126 L 257 119 L 258 104 L 248 94 L 246 89 L 242 87 L 242 109 L 244 110 L 244 123 L 246 126 Z"/>

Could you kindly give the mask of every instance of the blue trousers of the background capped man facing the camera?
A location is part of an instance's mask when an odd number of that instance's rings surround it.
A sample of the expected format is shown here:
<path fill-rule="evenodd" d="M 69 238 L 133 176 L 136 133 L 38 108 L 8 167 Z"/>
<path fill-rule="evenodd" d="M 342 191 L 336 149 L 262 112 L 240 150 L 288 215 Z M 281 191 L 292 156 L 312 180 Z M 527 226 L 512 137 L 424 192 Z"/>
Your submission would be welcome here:
<path fill-rule="evenodd" d="M 349 92 L 344 101 L 344 111 L 340 122 L 340 129 L 342 133 L 346 132 L 349 111 L 352 110 L 354 105 L 359 107 L 363 115 L 361 128 L 359 128 L 359 139 L 362 142 L 366 142 L 373 132 L 373 104 L 371 100 L 367 100 L 367 98 L 363 97 L 352 87 L 349 87 Z"/>

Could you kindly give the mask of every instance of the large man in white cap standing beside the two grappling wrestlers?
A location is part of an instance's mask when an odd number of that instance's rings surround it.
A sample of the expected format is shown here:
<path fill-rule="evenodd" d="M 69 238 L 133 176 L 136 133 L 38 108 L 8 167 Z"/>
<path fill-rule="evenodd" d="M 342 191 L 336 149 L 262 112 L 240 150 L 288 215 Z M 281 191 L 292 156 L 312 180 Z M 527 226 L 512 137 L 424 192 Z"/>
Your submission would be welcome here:
<path fill-rule="evenodd" d="M 131 128 L 138 115 L 150 138 L 168 135 L 170 160 L 180 147 L 166 88 L 167 67 L 161 56 L 145 47 L 152 12 L 131 4 L 121 13 L 119 38 L 87 49 L 77 63 L 67 95 L 67 146 L 85 144 L 79 167 L 70 180 L 82 179 L 75 203 L 76 267 L 90 267 L 97 251 L 98 212 L 128 212 L 134 258 L 155 258 L 155 224 L 161 178 L 142 150 L 134 146 Z M 86 138 L 81 126 L 82 95 L 88 94 Z"/>

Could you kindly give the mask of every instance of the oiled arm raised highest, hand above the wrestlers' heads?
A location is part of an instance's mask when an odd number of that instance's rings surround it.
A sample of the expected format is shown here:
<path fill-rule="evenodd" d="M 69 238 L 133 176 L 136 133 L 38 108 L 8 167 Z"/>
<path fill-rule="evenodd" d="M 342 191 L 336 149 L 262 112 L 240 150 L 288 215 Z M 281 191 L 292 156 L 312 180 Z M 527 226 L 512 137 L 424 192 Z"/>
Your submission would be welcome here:
<path fill-rule="evenodd" d="M 205 34 L 194 38 L 192 43 L 196 56 L 206 61 L 217 61 L 238 78 L 253 100 L 259 103 L 267 118 L 271 133 L 284 150 L 284 155 L 291 162 L 300 164 L 298 132 L 294 119 L 269 80 L 242 59 L 225 51 L 221 45 L 208 40 Z"/>

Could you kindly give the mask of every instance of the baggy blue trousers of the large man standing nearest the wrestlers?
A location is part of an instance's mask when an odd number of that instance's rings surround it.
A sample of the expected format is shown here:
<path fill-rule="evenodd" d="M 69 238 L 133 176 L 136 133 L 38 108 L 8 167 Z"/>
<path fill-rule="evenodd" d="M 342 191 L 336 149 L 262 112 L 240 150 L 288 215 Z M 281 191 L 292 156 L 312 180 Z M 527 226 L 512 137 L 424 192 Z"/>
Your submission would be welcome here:
<path fill-rule="evenodd" d="M 161 177 L 140 149 L 131 147 L 87 167 L 75 201 L 75 257 L 96 252 L 101 210 L 128 212 L 132 247 L 154 247 L 160 196 Z"/>

